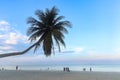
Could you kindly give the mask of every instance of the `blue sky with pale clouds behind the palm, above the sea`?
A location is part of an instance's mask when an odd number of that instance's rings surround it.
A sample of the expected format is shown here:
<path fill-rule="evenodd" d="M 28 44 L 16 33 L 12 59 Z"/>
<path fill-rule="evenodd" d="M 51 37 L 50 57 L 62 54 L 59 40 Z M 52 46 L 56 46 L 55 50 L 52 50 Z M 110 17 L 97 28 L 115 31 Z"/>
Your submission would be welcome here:
<path fill-rule="evenodd" d="M 0 58 L 0 65 L 120 64 L 120 0 L 0 0 L 0 54 L 32 45 L 26 35 L 35 11 L 56 6 L 72 23 L 66 48 L 50 57 L 42 49 Z"/>

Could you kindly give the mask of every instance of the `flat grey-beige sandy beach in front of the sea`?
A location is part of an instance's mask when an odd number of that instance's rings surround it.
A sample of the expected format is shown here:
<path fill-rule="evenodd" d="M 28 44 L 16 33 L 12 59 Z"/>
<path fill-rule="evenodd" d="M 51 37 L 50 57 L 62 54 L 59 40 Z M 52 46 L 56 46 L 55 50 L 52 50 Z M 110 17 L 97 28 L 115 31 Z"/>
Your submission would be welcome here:
<path fill-rule="evenodd" d="M 120 73 L 62 71 L 0 71 L 0 80 L 120 80 Z"/>

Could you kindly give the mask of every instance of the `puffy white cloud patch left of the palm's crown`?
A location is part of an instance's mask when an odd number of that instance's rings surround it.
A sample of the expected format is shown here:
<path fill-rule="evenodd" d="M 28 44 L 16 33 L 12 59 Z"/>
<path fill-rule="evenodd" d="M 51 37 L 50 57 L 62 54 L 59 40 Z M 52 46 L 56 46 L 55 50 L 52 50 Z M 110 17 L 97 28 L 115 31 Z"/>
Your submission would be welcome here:
<path fill-rule="evenodd" d="M 18 44 L 26 44 L 27 37 L 14 29 L 7 21 L 0 21 L 0 50 L 15 50 Z M 14 47 L 13 47 L 13 46 Z M 0 51 L 0 52 L 1 52 Z"/>

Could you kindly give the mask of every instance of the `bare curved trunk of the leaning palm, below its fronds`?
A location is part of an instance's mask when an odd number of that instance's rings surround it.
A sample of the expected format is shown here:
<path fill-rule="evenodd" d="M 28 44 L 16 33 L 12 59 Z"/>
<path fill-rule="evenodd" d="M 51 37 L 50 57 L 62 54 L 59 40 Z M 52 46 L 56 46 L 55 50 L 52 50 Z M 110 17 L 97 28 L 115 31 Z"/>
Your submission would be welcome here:
<path fill-rule="evenodd" d="M 37 42 L 21 52 L 11 52 L 11 53 L 0 54 L 0 58 L 25 54 L 30 49 L 32 49 L 36 44 L 37 44 Z"/>

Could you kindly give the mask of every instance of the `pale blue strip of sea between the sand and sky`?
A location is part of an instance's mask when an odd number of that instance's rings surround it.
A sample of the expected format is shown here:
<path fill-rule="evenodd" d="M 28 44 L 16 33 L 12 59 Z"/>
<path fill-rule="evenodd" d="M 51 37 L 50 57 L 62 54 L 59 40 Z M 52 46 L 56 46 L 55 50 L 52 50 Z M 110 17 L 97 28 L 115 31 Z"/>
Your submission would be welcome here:
<path fill-rule="evenodd" d="M 50 71 L 63 71 L 64 67 L 69 67 L 71 71 L 99 71 L 99 72 L 120 72 L 120 65 L 19 65 L 19 70 L 50 70 Z M 1 69 L 15 70 L 16 66 L 1 66 Z"/>

